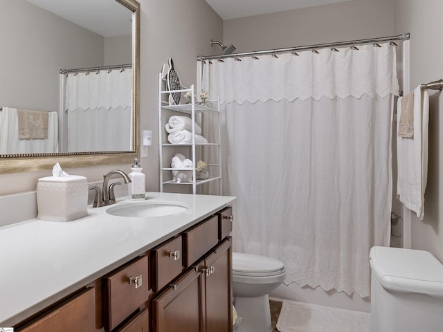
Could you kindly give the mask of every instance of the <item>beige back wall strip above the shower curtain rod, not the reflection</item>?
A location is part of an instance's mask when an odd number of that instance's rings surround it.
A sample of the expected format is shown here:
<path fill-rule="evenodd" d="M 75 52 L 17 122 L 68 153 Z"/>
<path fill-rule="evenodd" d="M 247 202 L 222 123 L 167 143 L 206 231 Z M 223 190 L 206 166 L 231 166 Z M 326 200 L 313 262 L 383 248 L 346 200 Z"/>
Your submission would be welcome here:
<path fill-rule="evenodd" d="M 224 22 L 235 52 L 268 50 L 392 35 L 394 0 L 354 0 Z"/>

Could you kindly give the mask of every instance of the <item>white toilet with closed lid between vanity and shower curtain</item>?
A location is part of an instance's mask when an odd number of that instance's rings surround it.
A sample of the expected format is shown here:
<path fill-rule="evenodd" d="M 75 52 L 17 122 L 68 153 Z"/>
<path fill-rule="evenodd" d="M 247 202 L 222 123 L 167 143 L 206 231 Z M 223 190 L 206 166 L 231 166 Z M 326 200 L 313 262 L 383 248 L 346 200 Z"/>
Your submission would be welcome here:
<path fill-rule="evenodd" d="M 278 259 L 233 252 L 234 306 L 242 322 L 239 332 L 272 331 L 269 292 L 284 282 Z"/>

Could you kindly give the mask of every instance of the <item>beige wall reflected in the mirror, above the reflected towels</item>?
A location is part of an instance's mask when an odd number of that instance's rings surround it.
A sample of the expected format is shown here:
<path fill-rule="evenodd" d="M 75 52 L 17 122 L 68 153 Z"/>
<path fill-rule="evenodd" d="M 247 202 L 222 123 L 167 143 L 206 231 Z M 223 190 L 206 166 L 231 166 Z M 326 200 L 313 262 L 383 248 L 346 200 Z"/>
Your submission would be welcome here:
<path fill-rule="evenodd" d="M 102 36 L 27 1 L 0 1 L 0 21 L 1 106 L 58 111 L 59 69 L 103 64 Z"/>

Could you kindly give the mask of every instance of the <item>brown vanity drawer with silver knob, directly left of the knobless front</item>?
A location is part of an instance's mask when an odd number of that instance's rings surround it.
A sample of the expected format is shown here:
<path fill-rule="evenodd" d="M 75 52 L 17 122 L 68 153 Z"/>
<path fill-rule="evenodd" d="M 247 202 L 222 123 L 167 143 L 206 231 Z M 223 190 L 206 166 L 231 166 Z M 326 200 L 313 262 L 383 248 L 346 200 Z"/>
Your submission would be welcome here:
<path fill-rule="evenodd" d="M 183 271 L 181 237 L 151 250 L 152 290 L 158 292 Z"/>

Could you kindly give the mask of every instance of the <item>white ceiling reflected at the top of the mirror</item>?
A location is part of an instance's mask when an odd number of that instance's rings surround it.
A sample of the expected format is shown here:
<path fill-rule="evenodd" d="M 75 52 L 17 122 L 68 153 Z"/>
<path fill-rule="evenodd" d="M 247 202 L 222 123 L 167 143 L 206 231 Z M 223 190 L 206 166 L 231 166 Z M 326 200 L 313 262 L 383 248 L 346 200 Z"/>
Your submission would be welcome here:
<path fill-rule="evenodd" d="M 109 0 L 26 0 L 103 37 L 131 35 L 132 11 Z"/>

